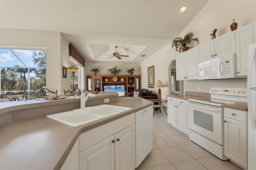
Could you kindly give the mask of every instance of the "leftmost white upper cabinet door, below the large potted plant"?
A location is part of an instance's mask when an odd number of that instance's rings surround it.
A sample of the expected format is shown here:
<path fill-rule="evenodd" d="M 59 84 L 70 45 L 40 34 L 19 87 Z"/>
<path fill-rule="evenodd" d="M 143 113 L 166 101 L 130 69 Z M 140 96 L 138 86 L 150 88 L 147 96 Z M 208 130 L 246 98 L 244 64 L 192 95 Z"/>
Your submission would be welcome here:
<path fill-rule="evenodd" d="M 176 55 L 176 80 L 186 79 L 186 52 Z"/>

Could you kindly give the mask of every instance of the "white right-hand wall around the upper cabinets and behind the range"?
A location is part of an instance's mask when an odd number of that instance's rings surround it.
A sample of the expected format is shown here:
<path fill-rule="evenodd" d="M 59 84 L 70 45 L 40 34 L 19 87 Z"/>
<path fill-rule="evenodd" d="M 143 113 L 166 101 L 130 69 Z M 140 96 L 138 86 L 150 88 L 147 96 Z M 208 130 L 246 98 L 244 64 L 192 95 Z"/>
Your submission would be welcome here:
<path fill-rule="evenodd" d="M 194 32 L 194 37 L 198 37 L 200 44 L 211 40 L 210 33 L 217 28 L 216 37 L 230 32 L 230 24 L 235 19 L 238 27 L 254 22 L 256 20 L 255 0 L 209 0 L 188 26 L 181 32 L 181 37 L 188 31 Z M 189 9 L 188 9 L 189 10 Z M 175 23 L 174 23 L 175 24 Z M 189 45 L 194 47 L 196 43 Z M 154 55 L 140 63 L 142 87 L 147 87 L 147 67 L 155 65 L 155 80 L 160 79 L 169 87 L 168 67 L 170 61 L 175 59 L 176 51 L 172 49 L 171 43 Z M 210 87 L 246 87 L 246 79 L 232 80 L 194 80 L 184 81 L 184 91 L 198 91 L 208 93 Z M 169 88 L 162 89 L 162 99 L 170 94 Z M 150 88 L 152 90 L 152 88 Z M 157 89 L 154 89 L 157 91 Z"/>

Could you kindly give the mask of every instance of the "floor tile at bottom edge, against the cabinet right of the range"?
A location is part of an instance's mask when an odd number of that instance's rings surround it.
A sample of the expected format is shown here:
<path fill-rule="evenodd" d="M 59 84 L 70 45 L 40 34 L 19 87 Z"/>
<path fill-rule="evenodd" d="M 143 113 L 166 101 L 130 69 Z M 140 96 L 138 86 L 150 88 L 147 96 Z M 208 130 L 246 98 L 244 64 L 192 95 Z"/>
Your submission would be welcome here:
<path fill-rule="evenodd" d="M 220 160 L 216 156 L 201 158 L 197 160 L 208 170 L 238 170 L 238 168 L 236 166 L 233 166 L 230 161 Z"/>

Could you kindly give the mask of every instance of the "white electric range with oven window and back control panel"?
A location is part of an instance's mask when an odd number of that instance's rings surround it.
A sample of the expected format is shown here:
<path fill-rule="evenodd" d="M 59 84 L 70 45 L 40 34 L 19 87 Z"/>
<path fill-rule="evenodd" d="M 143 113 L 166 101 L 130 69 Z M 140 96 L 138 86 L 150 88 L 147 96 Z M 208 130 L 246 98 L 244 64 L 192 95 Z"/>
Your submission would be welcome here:
<path fill-rule="evenodd" d="M 223 152 L 223 104 L 247 102 L 246 88 L 210 88 L 211 97 L 188 99 L 189 138 L 218 158 Z"/>

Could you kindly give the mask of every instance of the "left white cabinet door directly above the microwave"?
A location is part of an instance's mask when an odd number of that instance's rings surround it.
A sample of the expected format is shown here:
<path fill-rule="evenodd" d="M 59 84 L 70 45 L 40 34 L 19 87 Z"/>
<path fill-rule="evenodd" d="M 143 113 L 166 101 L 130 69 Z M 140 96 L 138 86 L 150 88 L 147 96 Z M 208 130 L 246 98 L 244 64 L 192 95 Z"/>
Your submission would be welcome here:
<path fill-rule="evenodd" d="M 200 63 L 209 59 L 214 59 L 214 40 L 199 45 Z"/>

